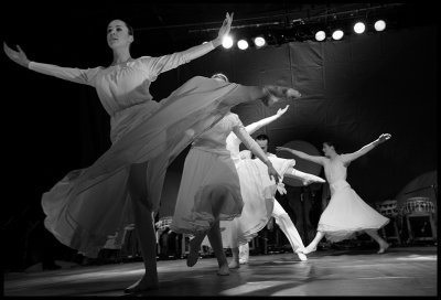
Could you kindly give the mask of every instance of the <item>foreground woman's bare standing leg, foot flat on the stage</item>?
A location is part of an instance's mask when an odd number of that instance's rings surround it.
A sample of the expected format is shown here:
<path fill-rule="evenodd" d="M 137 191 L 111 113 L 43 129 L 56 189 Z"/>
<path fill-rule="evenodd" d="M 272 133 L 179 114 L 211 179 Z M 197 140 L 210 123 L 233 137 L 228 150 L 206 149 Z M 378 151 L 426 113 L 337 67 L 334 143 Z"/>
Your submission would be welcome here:
<path fill-rule="evenodd" d="M 147 162 L 131 165 L 128 186 L 146 272 L 139 281 L 127 288 L 125 292 L 146 291 L 159 286 L 153 215 L 143 203 L 147 199 L 146 175 Z"/>

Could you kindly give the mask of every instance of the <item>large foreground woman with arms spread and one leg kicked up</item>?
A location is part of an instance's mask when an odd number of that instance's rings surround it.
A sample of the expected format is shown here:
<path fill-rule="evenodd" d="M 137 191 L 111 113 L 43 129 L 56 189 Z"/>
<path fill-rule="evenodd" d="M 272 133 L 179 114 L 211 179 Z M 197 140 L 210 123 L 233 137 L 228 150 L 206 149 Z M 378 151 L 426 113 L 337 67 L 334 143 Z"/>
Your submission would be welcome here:
<path fill-rule="evenodd" d="M 286 87 L 246 87 L 197 76 L 160 103 L 152 100 L 151 82 L 220 45 L 232 21 L 233 14 L 227 13 L 218 36 L 209 43 L 170 55 L 132 58 L 133 32 L 126 22 L 114 20 L 107 26 L 114 62 L 88 69 L 31 62 L 19 46 L 14 51 L 3 43 L 9 58 L 24 67 L 95 87 L 110 115 L 111 147 L 93 165 L 69 172 L 44 193 L 42 206 L 46 228 L 88 257 L 97 256 L 109 235 L 136 224 L 146 274 L 126 292 L 158 288 L 152 213 L 159 208 L 166 167 L 173 159 L 232 106 L 258 99 L 271 105 L 298 95 Z"/>

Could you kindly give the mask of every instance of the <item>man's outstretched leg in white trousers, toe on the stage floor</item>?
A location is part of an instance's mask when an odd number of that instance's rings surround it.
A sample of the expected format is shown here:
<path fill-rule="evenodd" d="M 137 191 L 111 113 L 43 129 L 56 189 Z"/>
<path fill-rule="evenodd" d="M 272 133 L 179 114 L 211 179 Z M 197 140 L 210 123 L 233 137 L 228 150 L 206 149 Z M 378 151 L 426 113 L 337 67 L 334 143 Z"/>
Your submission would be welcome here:
<path fill-rule="evenodd" d="M 280 229 L 287 236 L 292 250 L 299 256 L 300 260 L 308 260 L 306 256 L 302 253 L 302 250 L 304 250 L 302 238 L 300 237 L 290 216 L 276 199 L 273 201 L 275 206 L 272 210 L 272 216 L 276 218 L 277 225 L 279 225 Z"/>

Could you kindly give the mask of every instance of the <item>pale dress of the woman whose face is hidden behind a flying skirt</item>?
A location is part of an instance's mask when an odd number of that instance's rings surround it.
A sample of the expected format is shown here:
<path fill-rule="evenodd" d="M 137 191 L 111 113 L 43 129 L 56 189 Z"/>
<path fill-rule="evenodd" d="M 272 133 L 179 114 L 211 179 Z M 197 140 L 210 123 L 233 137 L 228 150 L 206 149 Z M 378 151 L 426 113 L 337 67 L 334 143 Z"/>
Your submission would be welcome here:
<path fill-rule="evenodd" d="M 245 144 L 252 139 L 236 114 L 228 114 L 201 135 L 185 158 L 176 206 L 170 228 L 175 233 L 196 235 L 220 219 L 240 215 L 244 205 L 239 178 L 226 149 L 226 138 L 234 131 Z"/>

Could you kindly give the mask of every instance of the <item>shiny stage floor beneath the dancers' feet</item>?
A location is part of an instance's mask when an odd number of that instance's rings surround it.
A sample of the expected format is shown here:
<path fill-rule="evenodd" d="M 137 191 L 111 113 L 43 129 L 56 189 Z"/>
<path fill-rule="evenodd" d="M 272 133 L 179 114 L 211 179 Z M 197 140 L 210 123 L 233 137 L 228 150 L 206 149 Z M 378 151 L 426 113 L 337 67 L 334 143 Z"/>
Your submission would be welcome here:
<path fill-rule="evenodd" d="M 200 259 L 193 268 L 185 259 L 160 260 L 160 289 L 142 296 L 438 296 L 437 260 L 433 246 L 389 248 L 383 255 L 322 250 L 308 261 L 293 254 L 261 255 L 229 276 L 216 275 L 215 258 Z M 142 262 L 10 272 L 3 294 L 125 296 L 142 274 Z"/>

